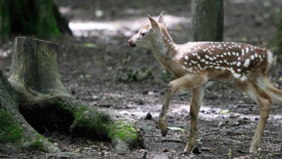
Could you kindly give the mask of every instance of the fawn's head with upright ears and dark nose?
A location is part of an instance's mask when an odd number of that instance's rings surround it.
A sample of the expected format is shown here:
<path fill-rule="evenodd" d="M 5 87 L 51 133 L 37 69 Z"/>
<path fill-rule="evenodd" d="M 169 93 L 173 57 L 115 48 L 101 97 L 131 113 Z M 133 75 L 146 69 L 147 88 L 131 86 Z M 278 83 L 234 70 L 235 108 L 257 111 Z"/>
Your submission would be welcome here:
<path fill-rule="evenodd" d="M 148 18 L 150 24 L 143 26 L 137 34 L 132 36 L 127 41 L 128 45 L 132 47 L 151 49 L 152 40 L 154 38 L 159 38 L 160 36 L 162 36 L 162 30 L 166 30 L 164 23 L 164 12 L 161 12 L 158 22 L 156 22 L 152 17 L 150 17 L 149 14 Z"/>

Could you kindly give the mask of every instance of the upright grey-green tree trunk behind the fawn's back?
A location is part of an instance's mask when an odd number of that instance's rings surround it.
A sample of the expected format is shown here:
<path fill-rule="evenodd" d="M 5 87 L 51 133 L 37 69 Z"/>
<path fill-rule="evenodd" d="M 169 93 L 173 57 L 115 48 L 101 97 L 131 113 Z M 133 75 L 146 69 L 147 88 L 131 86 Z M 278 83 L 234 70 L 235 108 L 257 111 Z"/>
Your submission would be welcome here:
<path fill-rule="evenodd" d="M 222 41 L 223 0 L 191 0 L 193 41 Z"/>

